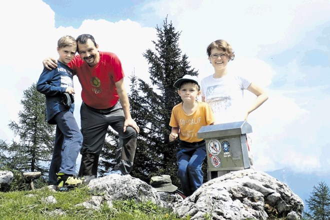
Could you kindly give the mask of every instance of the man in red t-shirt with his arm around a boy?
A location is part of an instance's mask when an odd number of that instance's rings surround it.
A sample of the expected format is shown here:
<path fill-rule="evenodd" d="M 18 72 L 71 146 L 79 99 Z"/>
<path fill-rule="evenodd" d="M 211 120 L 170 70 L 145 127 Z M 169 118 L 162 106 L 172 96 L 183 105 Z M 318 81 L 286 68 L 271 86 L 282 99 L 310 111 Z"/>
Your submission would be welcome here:
<path fill-rule="evenodd" d="M 128 174 L 133 165 L 139 127 L 129 112 L 124 86 L 124 73 L 119 58 L 111 52 L 98 51 L 98 44 L 90 34 L 76 38 L 77 51 L 68 63 L 81 84 L 81 133 L 83 136 L 79 176 L 88 181 L 97 177 L 98 158 L 110 125 L 119 134 L 114 173 Z M 46 58 L 43 65 L 57 66 L 56 60 Z M 119 100 L 119 101 L 118 101 Z"/>

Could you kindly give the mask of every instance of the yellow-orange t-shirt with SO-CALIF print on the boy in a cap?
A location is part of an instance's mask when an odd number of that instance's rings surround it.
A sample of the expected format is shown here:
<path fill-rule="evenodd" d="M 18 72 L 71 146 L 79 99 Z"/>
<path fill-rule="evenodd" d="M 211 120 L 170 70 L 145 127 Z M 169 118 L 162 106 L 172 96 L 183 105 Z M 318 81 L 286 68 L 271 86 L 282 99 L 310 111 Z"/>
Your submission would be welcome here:
<path fill-rule="evenodd" d="M 197 137 L 197 132 L 201 126 L 209 125 L 214 122 L 214 115 L 206 102 L 197 101 L 196 110 L 187 115 L 182 108 L 182 103 L 176 104 L 170 116 L 169 126 L 179 127 L 180 140 L 186 142 L 198 142 L 203 138 Z"/>

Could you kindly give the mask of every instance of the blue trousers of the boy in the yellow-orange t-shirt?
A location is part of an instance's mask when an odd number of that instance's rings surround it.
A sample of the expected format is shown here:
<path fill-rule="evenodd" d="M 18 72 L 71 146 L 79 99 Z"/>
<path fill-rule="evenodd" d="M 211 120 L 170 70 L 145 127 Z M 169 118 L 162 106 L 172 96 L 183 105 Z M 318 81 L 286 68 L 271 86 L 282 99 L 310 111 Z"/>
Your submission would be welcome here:
<path fill-rule="evenodd" d="M 180 141 L 176 149 L 177 175 L 184 195 L 189 196 L 203 183 L 201 166 L 206 157 L 205 141 Z"/>

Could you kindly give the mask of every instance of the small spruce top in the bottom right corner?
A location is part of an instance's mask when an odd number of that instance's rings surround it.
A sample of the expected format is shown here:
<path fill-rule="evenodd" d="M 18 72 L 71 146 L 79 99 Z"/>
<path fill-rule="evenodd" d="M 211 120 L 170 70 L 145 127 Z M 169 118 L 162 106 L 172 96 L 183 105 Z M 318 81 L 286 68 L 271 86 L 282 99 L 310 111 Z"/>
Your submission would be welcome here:
<path fill-rule="evenodd" d="M 325 182 L 321 181 L 317 186 L 313 186 L 311 196 L 306 199 L 306 204 L 309 211 L 304 215 L 308 219 L 330 219 L 330 190 Z"/>

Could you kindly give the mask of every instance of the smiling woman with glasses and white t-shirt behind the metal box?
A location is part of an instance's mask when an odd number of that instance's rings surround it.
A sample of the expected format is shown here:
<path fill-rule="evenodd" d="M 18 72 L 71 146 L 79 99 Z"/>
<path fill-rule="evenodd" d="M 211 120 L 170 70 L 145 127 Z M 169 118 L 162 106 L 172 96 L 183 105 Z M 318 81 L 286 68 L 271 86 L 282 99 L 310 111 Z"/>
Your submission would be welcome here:
<path fill-rule="evenodd" d="M 211 42 L 206 53 L 214 73 L 200 82 L 201 100 L 210 105 L 215 116 L 214 124 L 247 120 L 248 114 L 268 99 L 265 90 L 244 77 L 227 72 L 229 60 L 235 57 L 227 41 L 218 39 Z M 244 90 L 256 95 L 248 108 L 243 106 Z M 253 163 L 251 157 L 250 163 Z"/>

